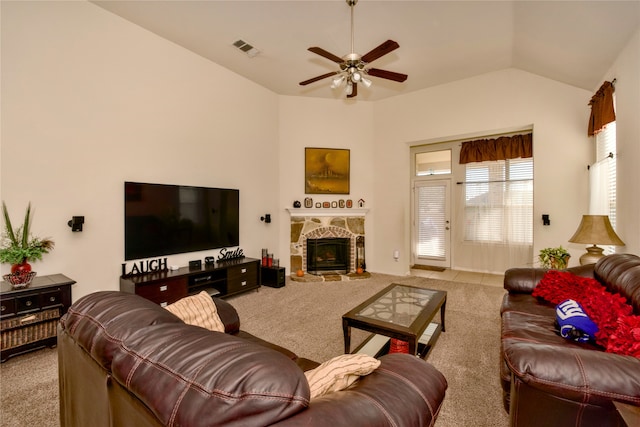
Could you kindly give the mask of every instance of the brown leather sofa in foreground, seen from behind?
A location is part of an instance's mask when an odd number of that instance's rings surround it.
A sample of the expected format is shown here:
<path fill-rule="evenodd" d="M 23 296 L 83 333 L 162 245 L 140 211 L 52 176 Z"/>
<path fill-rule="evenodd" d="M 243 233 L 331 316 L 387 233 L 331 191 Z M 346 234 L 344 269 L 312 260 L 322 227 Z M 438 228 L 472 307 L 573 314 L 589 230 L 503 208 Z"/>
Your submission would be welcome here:
<path fill-rule="evenodd" d="M 240 330 L 215 299 L 226 333 L 190 326 L 160 306 L 97 292 L 58 327 L 62 427 L 432 426 L 447 383 L 407 354 L 351 388 L 310 401 L 316 362 Z"/>

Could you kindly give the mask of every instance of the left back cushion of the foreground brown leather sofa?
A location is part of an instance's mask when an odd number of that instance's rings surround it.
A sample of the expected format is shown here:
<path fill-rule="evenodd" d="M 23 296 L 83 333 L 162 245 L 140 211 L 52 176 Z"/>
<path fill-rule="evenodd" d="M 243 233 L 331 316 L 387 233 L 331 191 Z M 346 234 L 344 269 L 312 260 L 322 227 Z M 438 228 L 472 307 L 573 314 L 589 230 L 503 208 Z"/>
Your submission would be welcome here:
<path fill-rule="evenodd" d="M 60 327 L 104 369 L 122 341 L 140 328 L 182 321 L 159 305 L 137 295 L 103 291 L 76 301 L 60 320 Z"/>

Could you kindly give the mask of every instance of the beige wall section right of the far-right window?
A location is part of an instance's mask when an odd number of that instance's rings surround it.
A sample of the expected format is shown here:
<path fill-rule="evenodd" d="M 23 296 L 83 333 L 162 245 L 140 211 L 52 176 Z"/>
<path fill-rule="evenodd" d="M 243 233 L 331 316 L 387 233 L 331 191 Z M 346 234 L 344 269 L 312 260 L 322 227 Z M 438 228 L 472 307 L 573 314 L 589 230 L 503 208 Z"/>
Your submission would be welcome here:
<path fill-rule="evenodd" d="M 616 79 L 616 232 L 626 246 L 617 252 L 640 254 L 640 29 L 629 40 L 604 80 Z M 594 88 L 594 92 L 598 88 Z"/>

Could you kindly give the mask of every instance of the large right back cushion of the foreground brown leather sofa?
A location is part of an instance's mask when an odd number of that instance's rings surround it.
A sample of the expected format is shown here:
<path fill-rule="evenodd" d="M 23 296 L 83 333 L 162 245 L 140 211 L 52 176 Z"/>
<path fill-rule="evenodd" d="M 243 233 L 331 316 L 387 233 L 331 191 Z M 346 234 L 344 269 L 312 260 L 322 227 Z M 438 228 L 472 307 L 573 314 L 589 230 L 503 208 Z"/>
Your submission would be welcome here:
<path fill-rule="evenodd" d="M 235 336 L 162 324 L 137 330 L 122 349 L 113 377 L 164 425 L 266 426 L 309 405 L 295 362 Z"/>

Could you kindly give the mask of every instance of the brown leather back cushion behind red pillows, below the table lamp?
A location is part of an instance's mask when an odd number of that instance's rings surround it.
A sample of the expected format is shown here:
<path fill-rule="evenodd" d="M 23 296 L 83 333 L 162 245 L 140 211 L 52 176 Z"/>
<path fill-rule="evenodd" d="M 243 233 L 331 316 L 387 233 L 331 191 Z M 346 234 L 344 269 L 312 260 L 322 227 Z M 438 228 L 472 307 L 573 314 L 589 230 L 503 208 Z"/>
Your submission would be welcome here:
<path fill-rule="evenodd" d="M 614 254 L 601 258 L 594 275 L 613 293 L 625 296 L 635 314 L 640 314 L 640 257 Z"/>

